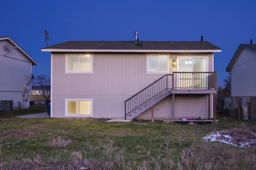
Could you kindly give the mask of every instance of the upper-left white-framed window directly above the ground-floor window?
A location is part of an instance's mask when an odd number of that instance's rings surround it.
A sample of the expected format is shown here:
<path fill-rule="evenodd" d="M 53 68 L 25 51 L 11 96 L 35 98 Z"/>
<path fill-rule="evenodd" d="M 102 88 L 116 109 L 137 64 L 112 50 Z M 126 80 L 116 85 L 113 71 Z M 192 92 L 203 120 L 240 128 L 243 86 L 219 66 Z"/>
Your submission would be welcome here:
<path fill-rule="evenodd" d="M 67 74 L 88 74 L 93 72 L 93 55 L 92 54 L 66 54 Z"/>

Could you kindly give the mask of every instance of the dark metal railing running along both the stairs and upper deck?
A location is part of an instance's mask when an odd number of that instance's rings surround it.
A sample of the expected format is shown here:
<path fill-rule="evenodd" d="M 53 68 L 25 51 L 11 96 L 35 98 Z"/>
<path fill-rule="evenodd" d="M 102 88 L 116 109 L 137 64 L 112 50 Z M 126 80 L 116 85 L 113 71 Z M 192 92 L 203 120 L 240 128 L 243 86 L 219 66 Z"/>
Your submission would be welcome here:
<path fill-rule="evenodd" d="M 172 77 L 171 77 L 172 76 Z M 142 106 L 164 90 L 216 90 L 217 72 L 173 72 L 166 74 L 124 101 L 126 115 Z"/>

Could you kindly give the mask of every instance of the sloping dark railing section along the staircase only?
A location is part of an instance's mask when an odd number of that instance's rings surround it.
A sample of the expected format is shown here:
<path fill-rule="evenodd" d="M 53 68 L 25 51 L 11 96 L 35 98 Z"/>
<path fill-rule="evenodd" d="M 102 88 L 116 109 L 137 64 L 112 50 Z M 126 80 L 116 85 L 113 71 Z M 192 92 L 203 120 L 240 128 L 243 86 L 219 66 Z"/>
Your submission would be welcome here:
<path fill-rule="evenodd" d="M 138 107 L 142 106 L 164 90 L 170 89 L 168 88 L 168 76 L 172 76 L 172 74 L 166 74 L 141 90 L 140 92 L 136 93 L 134 96 L 130 97 L 129 99 L 124 101 L 124 109 L 125 109 L 125 119 L 126 115 L 137 109 Z M 170 79 L 171 81 L 171 79 Z"/>

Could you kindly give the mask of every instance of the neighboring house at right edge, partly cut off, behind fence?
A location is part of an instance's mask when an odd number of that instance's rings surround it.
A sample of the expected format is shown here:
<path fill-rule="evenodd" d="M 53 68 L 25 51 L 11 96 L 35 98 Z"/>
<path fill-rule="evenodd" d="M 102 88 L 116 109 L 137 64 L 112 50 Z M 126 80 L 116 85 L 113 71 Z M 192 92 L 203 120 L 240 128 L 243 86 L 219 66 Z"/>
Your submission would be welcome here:
<path fill-rule="evenodd" d="M 256 96 L 256 44 L 240 44 L 226 72 L 231 73 L 231 97 Z"/>

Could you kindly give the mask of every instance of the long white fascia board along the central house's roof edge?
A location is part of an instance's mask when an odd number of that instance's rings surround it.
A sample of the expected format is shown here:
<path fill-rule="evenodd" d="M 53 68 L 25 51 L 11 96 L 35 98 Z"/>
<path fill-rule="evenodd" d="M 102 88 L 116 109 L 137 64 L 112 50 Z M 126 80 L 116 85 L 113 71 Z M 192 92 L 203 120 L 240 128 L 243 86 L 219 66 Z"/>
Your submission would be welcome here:
<path fill-rule="evenodd" d="M 117 53 L 213 53 L 221 50 L 111 50 L 111 49 L 41 49 L 48 52 L 117 52 Z"/>

